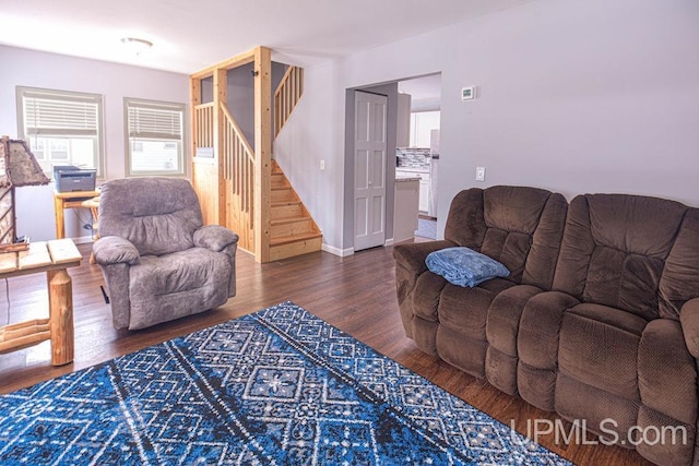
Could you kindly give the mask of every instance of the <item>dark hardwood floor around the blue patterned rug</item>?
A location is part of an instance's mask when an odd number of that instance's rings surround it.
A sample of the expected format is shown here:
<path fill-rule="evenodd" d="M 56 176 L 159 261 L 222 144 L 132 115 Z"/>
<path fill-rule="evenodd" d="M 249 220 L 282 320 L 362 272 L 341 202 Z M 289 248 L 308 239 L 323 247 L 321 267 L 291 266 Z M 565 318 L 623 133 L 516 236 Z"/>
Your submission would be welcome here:
<path fill-rule="evenodd" d="M 239 251 L 235 298 L 216 310 L 137 332 L 117 332 L 111 326 L 111 313 L 99 290 L 102 273 L 87 261 L 90 248 L 80 246 L 85 260 L 69 271 L 75 315 L 74 362 L 51 367 L 48 342 L 0 355 L 0 394 L 291 300 L 501 422 L 513 422 L 520 432 L 526 431 L 528 419 L 557 418 L 424 354 L 404 336 L 395 299 L 392 248 L 376 248 L 348 258 L 315 252 L 269 264 L 258 264 L 252 255 Z M 8 322 L 4 289 L 0 284 L 0 325 Z M 48 315 L 43 274 L 12 278 L 9 290 L 11 323 Z M 650 464 L 636 452 L 618 446 L 555 444 L 554 435 L 538 440 L 579 465 Z"/>

